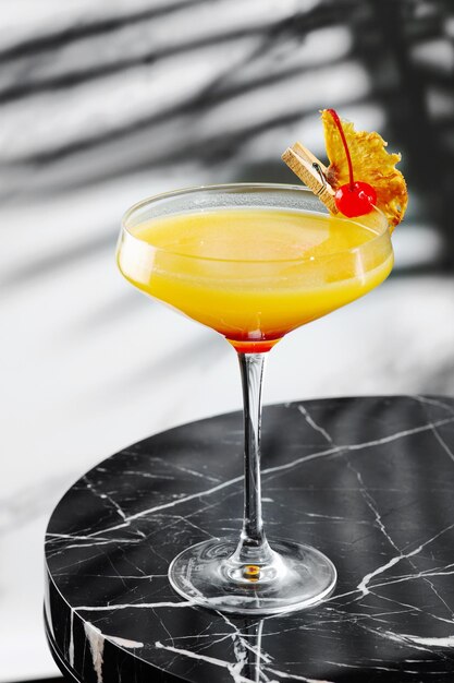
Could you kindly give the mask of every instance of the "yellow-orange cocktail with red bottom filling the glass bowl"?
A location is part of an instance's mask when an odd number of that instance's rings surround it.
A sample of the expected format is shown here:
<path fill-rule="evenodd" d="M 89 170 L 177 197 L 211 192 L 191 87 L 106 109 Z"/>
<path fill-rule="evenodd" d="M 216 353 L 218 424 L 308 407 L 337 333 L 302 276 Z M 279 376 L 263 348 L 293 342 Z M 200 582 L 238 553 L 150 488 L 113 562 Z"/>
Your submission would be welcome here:
<path fill-rule="evenodd" d="M 119 253 L 123 275 L 243 351 L 268 350 L 357 299 L 393 263 L 385 236 L 322 214 L 220 209 L 164 216 L 130 231 Z"/>

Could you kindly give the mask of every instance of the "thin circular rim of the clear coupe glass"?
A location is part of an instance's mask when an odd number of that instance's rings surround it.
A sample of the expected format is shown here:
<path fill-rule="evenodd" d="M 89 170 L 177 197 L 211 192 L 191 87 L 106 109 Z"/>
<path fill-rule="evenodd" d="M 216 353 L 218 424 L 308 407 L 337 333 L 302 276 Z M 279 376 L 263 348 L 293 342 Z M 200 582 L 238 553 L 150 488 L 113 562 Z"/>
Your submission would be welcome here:
<path fill-rule="evenodd" d="M 139 200 L 138 202 L 135 202 L 132 206 L 130 206 L 123 214 L 122 219 L 121 219 L 121 231 L 124 233 L 126 233 L 130 238 L 132 238 L 134 240 L 134 242 L 137 242 L 144 247 L 148 247 L 149 249 L 154 250 L 154 252 L 162 252 L 162 253 L 168 253 L 170 255 L 173 256 L 177 256 L 180 259 L 191 259 L 191 260 L 196 260 L 196 261 L 208 261 L 208 262 L 218 262 L 218 263 L 251 263 L 251 264 L 266 264 L 266 263 L 304 263 L 305 261 L 308 261 L 312 264 L 316 263 L 320 263 L 322 261 L 328 261 L 331 259 L 334 259 L 336 256 L 340 256 L 342 254 L 354 254 L 358 251 L 360 251 L 361 249 L 364 249 L 365 247 L 375 243 L 377 240 L 382 239 L 383 236 L 385 236 L 388 233 L 389 238 L 391 238 L 391 231 L 390 231 L 390 225 L 388 221 L 386 216 L 383 214 L 383 212 L 378 208 L 377 206 L 373 206 L 373 214 L 376 216 L 378 216 L 379 218 L 382 219 L 382 229 L 379 232 L 375 232 L 375 230 L 368 226 L 365 223 L 361 223 L 360 218 L 361 216 L 357 216 L 356 218 L 348 218 L 347 216 L 335 216 L 335 218 L 338 220 L 341 221 L 345 221 L 345 223 L 354 223 L 356 225 L 359 225 L 363 228 L 367 228 L 368 230 L 370 230 L 371 232 L 375 233 L 375 236 L 368 240 L 367 242 L 363 242 L 361 244 L 357 244 L 356 247 L 352 247 L 351 249 L 342 249 L 340 251 L 334 251 L 330 254 L 323 254 L 320 256 L 296 256 L 293 259 L 219 259 L 216 256 L 200 256 L 197 254 L 185 254 L 185 253 L 180 253 L 177 251 L 174 251 L 173 249 L 167 249 L 165 247 L 159 247 L 159 245 L 155 245 L 151 244 L 150 242 L 146 242 L 145 240 L 142 240 L 139 237 L 137 237 L 136 235 L 134 235 L 134 232 L 131 231 L 131 229 L 128 228 L 128 226 L 126 225 L 128 218 L 137 211 L 139 211 L 142 207 L 148 205 L 148 204 L 152 204 L 154 202 L 159 202 L 161 200 L 171 200 L 173 197 L 177 197 L 177 196 L 184 196 L 184 195 L 189 195 L 189 194 L 195 194 L 198 192 L 204 192 L 204 191 L 229 191 L 229 190 L 253 190 L 253 189 L 257 189 L 257 191 L 260 191 L 260 189 L 262 190 L 275 190 L 275 191 L 284 191 L 284 192 L 303 192 L 304 194 L 307 194 L 308 196 L 312 197 L 314 201 L 318 201 L 320 208 L 324 208 L 326 211 L 318 211 L 317 208 L 314 209 L 310 213 L 314 214 L 318 214 L 321 216 L 331 216 L 332 214 L 330 214 L 330 212 L 328 211 L 327 206 L 321 202 L 321 200 L 314 194 L 314 192 L 305 187 L 305 185 L 298 185 L 298 184 L 291 184 L 291 183 L 279 183 L 279 182 L 229 182 L 229 183 L 220 183 L 220 184 L 206 184 L 206 185 L 188 185 L 185 188 L 179 188 L 176 190 L 170 190 L 170 191 L 165 191 L 165 192 L 159 192 L 158 194 L 151 194 L 143 200 Z M 242 207 L 238 207 L 240 209 Z M 251 207 L 254 208 L 254 207 Z M 260 207 L 259 207 L 260 208 Z M 263 207 L 263 209 L 266 209 L 266 207 Z M 213 211 L 216 211 L 216 207 L 213 208 Z M 225 211 L 230 211 L 229 208 L 226 208 Z M 292 211 L 292 209 L 289 209 Z M 294 209 L 297 211 L 297 209 Z M 187 212 L 189 213 L 189 212 Z M 196 212 L 194 212 L 196 213 Z M 170 216 L 171 214 L 169 214 Z M 176 215 L 176 214 L 175 214 Z M 369 215 L 369 214 L 366 214 Z M 391 241 L 391 240 L 390 240 Z"/>

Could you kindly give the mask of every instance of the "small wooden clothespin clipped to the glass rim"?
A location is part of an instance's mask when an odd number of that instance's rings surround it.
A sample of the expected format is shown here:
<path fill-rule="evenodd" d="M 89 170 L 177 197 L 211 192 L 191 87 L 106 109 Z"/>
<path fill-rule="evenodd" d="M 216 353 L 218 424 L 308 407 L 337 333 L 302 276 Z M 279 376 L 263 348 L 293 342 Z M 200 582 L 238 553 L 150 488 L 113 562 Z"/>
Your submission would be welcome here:
<path fill-rule="evenodd" d="M 303 180 L 332 214 L 338 214 L 334 190 L 327 180 L 327 167 L 307 147 L 295 142 L 282 155 L 282 160 Z"/>

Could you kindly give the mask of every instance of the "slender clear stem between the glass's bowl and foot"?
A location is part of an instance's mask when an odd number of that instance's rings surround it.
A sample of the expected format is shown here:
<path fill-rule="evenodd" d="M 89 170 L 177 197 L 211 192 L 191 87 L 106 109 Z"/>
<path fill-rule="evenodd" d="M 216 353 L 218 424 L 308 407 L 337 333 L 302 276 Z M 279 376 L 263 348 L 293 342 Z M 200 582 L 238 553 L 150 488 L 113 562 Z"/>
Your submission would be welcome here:
<path fill-rule="evenodd" d="M 270 564 L 273 552 L 263 531 L 260 487 L 261 385 L 266 354 L 238 354 L 244 402 L 244 520 L 232 560 Z"/>

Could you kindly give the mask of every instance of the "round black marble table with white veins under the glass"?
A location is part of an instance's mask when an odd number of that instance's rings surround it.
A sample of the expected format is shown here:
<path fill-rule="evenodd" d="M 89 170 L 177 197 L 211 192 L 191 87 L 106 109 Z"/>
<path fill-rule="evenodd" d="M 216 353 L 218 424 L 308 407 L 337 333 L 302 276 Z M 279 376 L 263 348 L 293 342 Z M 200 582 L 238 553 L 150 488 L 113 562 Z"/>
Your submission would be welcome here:
<path fill-rule="evenodd" d="M 316 546 L 322 604 L 247 620 L 170 587 L 182 549 L 236 535 L 242 419 L 157 434 L 102 462 L 56 507 L 46 630 L 83 683 L 454 680 L 454 399 L 340 398 L 265 408 L 270 538 Z"/>

